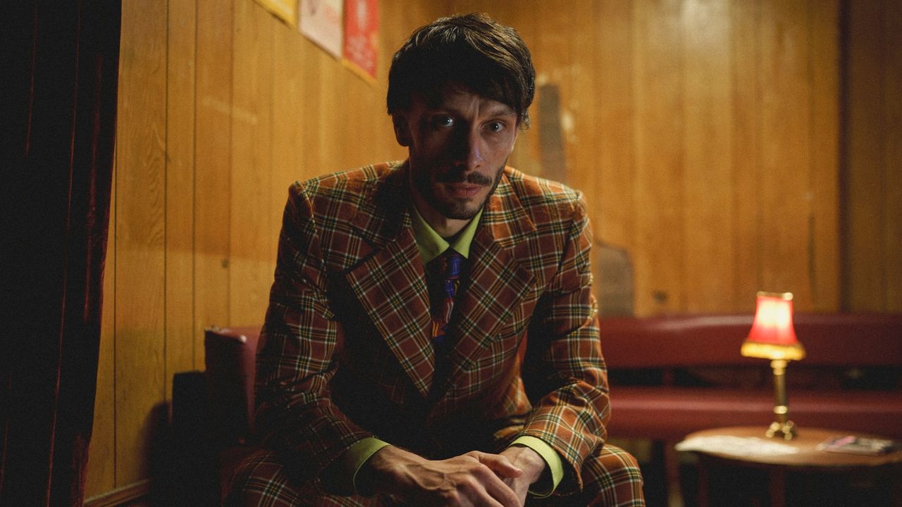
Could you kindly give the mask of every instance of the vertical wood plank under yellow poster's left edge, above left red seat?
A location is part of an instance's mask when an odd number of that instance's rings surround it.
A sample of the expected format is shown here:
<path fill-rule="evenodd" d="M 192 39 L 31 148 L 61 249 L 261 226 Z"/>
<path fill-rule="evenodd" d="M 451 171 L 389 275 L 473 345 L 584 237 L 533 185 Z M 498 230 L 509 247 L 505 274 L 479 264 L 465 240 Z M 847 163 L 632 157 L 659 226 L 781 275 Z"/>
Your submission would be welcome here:
<path fill-rule="evenodd" d="M 262 321 L 272 283 L 272 31 L 278 22 L 253 2 L 233 5 L 228 324 L 243 326 Z"/>

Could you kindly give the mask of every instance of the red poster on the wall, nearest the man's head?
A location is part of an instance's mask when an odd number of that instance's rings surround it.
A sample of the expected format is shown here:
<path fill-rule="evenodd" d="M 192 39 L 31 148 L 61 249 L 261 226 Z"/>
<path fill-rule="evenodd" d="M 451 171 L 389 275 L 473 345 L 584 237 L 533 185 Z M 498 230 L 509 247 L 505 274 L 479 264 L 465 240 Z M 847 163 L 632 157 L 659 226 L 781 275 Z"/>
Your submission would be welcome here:
<path fill-rule="evenodd" d="M 375 82 L 379 54 L 379 0 L 345 0 L 345 64 Z"/>

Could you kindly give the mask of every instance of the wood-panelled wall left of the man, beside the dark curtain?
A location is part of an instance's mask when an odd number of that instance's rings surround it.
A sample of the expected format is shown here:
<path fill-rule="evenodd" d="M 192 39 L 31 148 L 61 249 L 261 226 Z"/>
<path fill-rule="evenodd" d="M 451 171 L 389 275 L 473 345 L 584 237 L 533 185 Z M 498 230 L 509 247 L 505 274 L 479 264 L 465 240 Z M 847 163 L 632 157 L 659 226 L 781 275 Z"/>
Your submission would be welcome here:
<path fill-rule="evenodd" d="M 203 369 L 203 327 L 262 322 L 291 182 L 404 156 L 387 62 L 445 11 L 380 4 L 373 85 L 253 0 L 124 2 L 88 497 L 146 489 L 172 375 Z"/>

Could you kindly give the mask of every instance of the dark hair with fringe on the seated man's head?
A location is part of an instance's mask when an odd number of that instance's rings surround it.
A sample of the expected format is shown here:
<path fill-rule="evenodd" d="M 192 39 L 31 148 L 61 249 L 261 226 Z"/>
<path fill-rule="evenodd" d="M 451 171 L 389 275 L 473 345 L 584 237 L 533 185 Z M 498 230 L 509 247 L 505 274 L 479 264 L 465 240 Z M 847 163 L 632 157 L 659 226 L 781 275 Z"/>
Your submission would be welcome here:
<path fill-rule="evenodd" d="M 437 100 L 447 85 L 511 106 L 519 124 L 529 126 L 536 69 L 513 28 L 485 14 L 458 14 L 419 27 L 391 59 L 389 115 L 409 109 L 415 93 Z"/>

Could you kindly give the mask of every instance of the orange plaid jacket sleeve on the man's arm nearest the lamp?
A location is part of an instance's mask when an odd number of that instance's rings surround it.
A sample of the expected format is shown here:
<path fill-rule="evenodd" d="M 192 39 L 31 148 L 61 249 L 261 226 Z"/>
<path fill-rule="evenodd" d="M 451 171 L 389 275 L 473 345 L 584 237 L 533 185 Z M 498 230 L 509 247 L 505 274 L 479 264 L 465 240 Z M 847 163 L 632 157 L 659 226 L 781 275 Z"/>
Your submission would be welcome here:
<path fill-rule="evenodd" d="M 583 461 L 603 445 L 610 418 L 592 295 L 592 233 L 581 197 L 565 230 L 557 272 L 529 325 L 522 377 L 533 410 L 520 433 L 542 439 L 563 458 L 560 494 L 582 489 Z"/>

